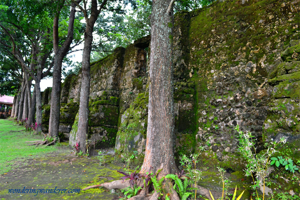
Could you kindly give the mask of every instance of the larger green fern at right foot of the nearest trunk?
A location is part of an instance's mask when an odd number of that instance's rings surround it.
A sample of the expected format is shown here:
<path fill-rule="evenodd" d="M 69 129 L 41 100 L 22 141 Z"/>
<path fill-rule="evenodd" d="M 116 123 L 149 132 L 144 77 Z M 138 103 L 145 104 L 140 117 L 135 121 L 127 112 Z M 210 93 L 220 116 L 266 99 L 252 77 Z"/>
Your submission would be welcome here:
<path fill-rule="evenodd" d="M 168 174 L 165 178 L 172 179 L 174 181 L 175 184 L 173 189 L 177 192 L 181 200 L 186 200 L 190 195 L 193 195 L 193 193 L 187 192 L 187 187 L 189 185 L 189 181 L 187 179 L 184 179 L 182 182 L 175 174 Z"/>

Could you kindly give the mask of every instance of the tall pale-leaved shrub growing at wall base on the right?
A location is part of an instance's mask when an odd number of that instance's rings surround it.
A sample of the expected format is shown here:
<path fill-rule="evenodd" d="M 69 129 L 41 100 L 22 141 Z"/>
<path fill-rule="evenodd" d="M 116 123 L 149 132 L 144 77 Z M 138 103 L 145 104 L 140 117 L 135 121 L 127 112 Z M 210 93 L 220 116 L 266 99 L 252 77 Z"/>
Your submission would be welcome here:
<path fill-rule="evenodd" d="M 255 185 L 252 187 L 256 191 L 257 199 L 258 193 L 256 188 L 260 186 L 261 180 L 263 181 L 263 200 L 265 199 L 265 180 L 267 177 L 267 170 L 268 167 L 270 166 L 269 158 L 272 154 L 276 152 L 275 147 L 279 143 L 286 143 L 286 138 L 282 137 L 280 138 L 280 141 L 274 141 L 271 142 L 273 147 L 269 147 L 267 149 L 266 153 L 256 153 L 256 147 L 255 147 L 255 139 L 253 138 L 254 136 L 251 135 L 250 132 L 242 132 L 239 130 L 239 126 L 236 125 L 235 130 L 238 132 L 238 140 L 239 140 L 239 146 L 238 150 L 241 152 L 242 156 L 244 159 L 247 160 L 248 164 L 246 166 L 246 176 L 251 176 L 253 183 Z M 254 181 L 254 175 L 256 174 L 256 181 Z M 260 180 L 260 178 L 261 180 Z"/>

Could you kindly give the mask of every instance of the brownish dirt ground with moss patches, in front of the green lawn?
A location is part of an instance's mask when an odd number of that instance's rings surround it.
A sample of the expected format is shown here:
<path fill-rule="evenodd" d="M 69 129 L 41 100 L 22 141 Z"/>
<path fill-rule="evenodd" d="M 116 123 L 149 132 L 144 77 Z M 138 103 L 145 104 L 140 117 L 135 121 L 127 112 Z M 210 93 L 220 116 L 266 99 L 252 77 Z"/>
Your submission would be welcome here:
<path fill-rule="evenodd" d="M 111 194 L 104 189 L 80 190 L 79 193 L 68 194 L 70 189 L 83 189 L 90 185 L 118 180 L 122 175 L 116 170 L 122 167 L 113 163 L 99 166 L 97 160 L 77 157 L 70 154 L 68 147 L 58 147 L 59 151 L 45 157 L 27 159 L 26 166 L 11 170 L 0 176 L 1 200 L 44 200 L 44 199 L 100 199 L 118 200 L 121 194 Z M 110 162 L 110 158 L 107 157 Z M 66 193 L 9 193 L 9 189 L 67 189 Z M 31 190 L 32 192 L 33 190 Z M 30 192 L 30 191 L 28 191 Z M 65 191 L 64 191 L 65 192 Z M 72 192 L 72 191 L 70 191 Z"/>

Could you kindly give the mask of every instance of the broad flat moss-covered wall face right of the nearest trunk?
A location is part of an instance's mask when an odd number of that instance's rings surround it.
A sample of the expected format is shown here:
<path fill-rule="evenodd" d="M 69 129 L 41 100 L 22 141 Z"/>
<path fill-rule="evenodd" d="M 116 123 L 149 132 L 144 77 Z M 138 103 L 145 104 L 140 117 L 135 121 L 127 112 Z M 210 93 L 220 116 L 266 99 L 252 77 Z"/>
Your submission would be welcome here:
<path fill-rule="evenodd" d="M 197 145 L 211 149 L 204 153 L 203 161 L 240 167 L 234 127 L 238 124 L 253 133 L 258 150 L 264 148 L 269 137 L 264 124 L 268 123 L 272 103 L 278 101 L 268 80 L 285 61 L 282 52 L 299 45 L 299 0 L 226 0 L 191 12 L 190 17 L 188 70 L 197 90 Z M 287 55 L 290 61 L 299 59 L 299 55 L 292 58 L 291 51 L 299 53 L 299 48 L 293 47 Z M 299 80 L 297 70 L 291 74 L 295 82 Z M 286 89 L 292 92 L 292 86 Z M 299 104 L 294 108 L 299 114 Z M 269 130 L 271 134 L 276 137 L 279 132 Z"/>

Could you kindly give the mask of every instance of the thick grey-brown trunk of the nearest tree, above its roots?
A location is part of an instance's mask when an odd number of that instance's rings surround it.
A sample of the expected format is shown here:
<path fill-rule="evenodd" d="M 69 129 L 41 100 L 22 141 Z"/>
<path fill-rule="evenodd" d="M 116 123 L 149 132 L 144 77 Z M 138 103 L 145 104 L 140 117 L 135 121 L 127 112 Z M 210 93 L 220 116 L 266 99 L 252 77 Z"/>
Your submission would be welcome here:
<path fill-rule="evenodd" d="M 153 0 L 151 14 L 148 129 L 141 172 L 147 172 L 150 166 L 153 167 L 153 173 L 161 169 L 158 178 L 178 171 L 173 153 L 173 11 L 168 9 L 170 2 L 171 0 Z"/>

